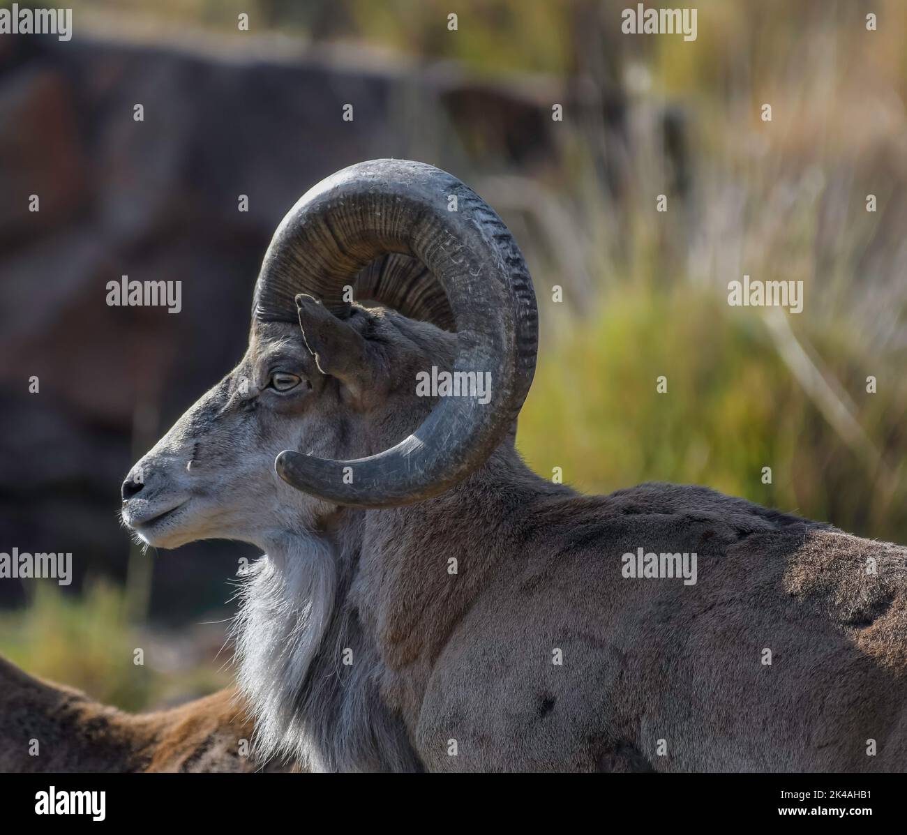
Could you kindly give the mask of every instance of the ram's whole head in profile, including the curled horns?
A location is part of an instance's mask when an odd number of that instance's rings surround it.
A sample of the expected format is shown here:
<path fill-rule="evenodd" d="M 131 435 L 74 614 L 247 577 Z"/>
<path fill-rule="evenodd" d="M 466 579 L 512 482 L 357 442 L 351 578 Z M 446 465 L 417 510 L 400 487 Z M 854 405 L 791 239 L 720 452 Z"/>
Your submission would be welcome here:
<path fill-rule="evenodd" d="M 537 329 L 520 250 L 471 189 L 406 160 L 342 170 L 284 218 L 246 355 L 132 468 L 123 519 L 164 548 L 268 549 L 338 506 L 434 496 L 512 428 Z"/>

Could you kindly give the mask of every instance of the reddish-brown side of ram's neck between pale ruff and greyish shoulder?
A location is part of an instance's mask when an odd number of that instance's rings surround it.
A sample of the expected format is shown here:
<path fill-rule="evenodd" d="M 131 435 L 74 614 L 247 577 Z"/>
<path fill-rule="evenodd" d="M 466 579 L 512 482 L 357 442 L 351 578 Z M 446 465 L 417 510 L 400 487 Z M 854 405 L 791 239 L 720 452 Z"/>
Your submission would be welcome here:
<path fill-rule="evenodd" d="M 418 713 L 424 684 L 463 613 L 501 571 L 512 570 L 533 507 L 571 495 L 534 475 L 505 444 L 436 499 L 366 515 L 351 597 L 395 682 L 395 708 Z"/>

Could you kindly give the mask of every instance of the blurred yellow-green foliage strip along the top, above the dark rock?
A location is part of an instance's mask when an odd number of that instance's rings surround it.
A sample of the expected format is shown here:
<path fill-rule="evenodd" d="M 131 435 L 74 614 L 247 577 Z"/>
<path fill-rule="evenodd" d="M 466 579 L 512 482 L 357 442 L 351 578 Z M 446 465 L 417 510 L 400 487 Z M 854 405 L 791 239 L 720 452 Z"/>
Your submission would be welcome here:
<path fill-rule="evenodd" d="M 667 0 L 645 5 L 678 7 Z M 75 7 L 77 17 L 128 15 L 224 34 L 237 32 L 244 13 L 252 33 L 368 44 L 387 53 L 459 61 L 482 74 L 566 76 L 598 61 L 613 69 L 644 55 L 660 92 L 695 93 L 713 104 L 732 88 L 771 91 L 779 77 L 808 64 L 807 42 L 824 41 L 837 60 L 865 63 L 880 81 L 907 86 L 902 0 L 706 0 L 697 4 L 694 48 L 682 38 L 610 36 L 619 34 L 622 10 L 636 7 L 629 0 L 82 0 Z M 863 24 L 870 12 L 879 22 L 873 33 Z M 457 15 L 455 32 L 448 29 L 451 14 Z M 848 33 L 863 39 L 865 53 L 842 40 Z M 594 49 L 590 35 L 600 39 L 600 52 L 613 54 L 588 54 Z"/>

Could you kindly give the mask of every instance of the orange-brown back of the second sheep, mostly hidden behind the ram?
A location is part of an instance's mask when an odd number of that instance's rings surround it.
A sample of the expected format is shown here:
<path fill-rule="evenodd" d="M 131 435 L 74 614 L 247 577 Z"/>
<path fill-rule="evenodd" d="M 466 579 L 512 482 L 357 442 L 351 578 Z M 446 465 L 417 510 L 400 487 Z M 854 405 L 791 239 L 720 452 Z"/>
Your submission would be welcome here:
<path fill-rule="evenodd" d="M 283 770 L 243 754 L 253 728 L 233 690 L 131 715 L 0 657 L 0 772 Z"/>

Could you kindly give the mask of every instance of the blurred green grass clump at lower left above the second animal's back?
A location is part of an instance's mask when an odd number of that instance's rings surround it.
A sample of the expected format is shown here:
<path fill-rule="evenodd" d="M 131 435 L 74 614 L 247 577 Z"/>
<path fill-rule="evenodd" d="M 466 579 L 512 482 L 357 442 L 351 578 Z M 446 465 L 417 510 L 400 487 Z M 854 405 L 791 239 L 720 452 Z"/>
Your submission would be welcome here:
<path fill-rule="evenodd" d="M 105 704 L 125 710 L 179 703 L 229 683 L 217 666 L 161 669 L 161 644 L 126 616 L 121 587 L 101 580 L 87 583 L 83 595 L 65 594 L 50 581 L 30 585 L 31 605 L 0 612 L 0 654 L 32 675 L 84 690 Z M 144 663 L 133 664 L 136 648 Z"/>

